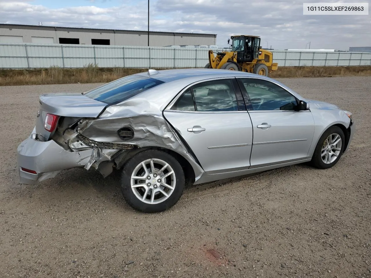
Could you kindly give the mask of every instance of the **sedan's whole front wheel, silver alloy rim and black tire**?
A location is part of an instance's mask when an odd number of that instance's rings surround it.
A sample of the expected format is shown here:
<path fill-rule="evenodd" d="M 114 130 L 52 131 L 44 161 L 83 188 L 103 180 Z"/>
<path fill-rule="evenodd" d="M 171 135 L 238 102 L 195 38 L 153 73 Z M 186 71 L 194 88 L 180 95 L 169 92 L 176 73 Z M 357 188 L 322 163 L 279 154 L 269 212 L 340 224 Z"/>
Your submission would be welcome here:
<path fill-rule="evenodd" d="M 311 163 L 319 169 L 334 166 L 340 159 L 345 146 L 344 132 L 338 126 L 331 126 L 319 139 Z"/>

